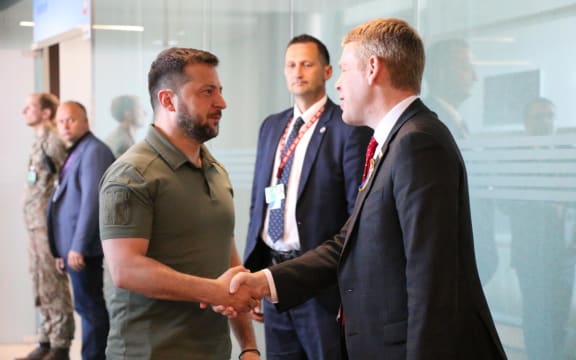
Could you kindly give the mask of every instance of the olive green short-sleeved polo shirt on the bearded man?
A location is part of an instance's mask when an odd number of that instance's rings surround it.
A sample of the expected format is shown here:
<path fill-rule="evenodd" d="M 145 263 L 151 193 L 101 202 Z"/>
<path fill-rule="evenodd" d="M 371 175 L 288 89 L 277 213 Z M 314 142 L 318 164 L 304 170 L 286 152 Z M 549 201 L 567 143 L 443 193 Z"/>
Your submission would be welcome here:
<path fill-rule="evenodd" d="M 228 174 L 201 147 L 202 167 L 151 126 L 106 172 L 100 235 L 149 240 L 147 256 L 216 278 L 229 268 L 234 229 Z M 227 319 L 198 303 L 152 299 L 111 286 L 108 359 L 229 359 Z"/>

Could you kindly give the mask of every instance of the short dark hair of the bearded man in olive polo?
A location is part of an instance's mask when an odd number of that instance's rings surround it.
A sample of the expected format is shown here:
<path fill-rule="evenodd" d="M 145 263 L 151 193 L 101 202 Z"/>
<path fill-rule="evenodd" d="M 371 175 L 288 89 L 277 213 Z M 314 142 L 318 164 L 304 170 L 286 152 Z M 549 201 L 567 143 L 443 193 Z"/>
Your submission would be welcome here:
<path fill-rule="evenodd" d="M 170 48 L 162 51 L 150 66 L 148 72 L 148 91 L 152 109 L 156 109 L 156 94 L 161 89 L 177 89 L 185 80 L 184 68 L 191 64 L 208 64 L 217 66 L 216 55 L 207 51 L 187 48 Z"/>

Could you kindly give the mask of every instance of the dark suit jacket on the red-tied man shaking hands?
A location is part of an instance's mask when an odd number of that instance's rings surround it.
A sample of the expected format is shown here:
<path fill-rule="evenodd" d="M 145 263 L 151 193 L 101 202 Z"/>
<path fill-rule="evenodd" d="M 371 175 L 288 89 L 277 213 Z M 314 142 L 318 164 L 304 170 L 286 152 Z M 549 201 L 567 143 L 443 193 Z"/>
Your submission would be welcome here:
<path fill-rule="evenodd" d="M 464 162 L 420 100 L 342 231 L 271 271 L 279 310 L 339 285 L 350 359 L 506 358 L 476 269 Z"/>

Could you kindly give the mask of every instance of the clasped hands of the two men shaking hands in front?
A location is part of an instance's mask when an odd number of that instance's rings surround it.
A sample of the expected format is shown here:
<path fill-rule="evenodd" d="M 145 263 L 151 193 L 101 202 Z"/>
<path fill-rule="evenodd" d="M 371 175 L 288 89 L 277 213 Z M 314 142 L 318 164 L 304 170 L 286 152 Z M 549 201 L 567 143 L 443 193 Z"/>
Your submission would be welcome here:
<path fill-rule="evenodd" d="M 210 294 L 208 302 L 201 302 L 201 308 L 212 306 L 212 310 L 229 318 L 250 312 L 260 305 L 260 300 L 270 296 L 268 280 L 263 271 L 250 273 L 243 266 L 228 269 L 215 282 L 216 291 Z"/>

